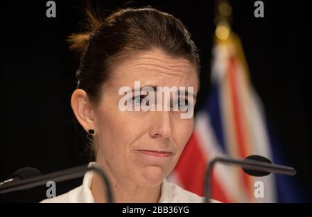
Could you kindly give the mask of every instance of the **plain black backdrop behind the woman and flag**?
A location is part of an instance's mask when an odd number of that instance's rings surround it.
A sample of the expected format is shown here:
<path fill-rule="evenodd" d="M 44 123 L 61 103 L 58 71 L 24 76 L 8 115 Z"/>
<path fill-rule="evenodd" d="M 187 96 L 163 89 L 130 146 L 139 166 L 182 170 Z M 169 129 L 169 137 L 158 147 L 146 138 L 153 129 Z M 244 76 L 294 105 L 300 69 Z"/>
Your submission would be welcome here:
<path fill-rule="evenodd" d="M 70 97 L 76 87 L 78 58 L 66 37 L 79 32 L 84 1 L 55 1 L 56 18 L 46 17 L 47 1 L 1 1 L 0 180 L 18 168 L 42 173 L 89 162 L 76 132 Z M 210 89 L 214 1 L 96 1 L 106 10 L 153 6 L 172 13 L 189 28 L 200 49 L 199 107 Z M 231 1 L 233 30 L 241 37 L 252 83 L 266 109 L 282 155 L 297 168 L 300 186 L 311 202 L 311 3 L 263 1 L 264 18 L 254 17 L 254 1 Z M 57 193 L 81 180 L 58 184 Z M 0 195 L 6 202 L 36 202 L 44 186 Z"/>

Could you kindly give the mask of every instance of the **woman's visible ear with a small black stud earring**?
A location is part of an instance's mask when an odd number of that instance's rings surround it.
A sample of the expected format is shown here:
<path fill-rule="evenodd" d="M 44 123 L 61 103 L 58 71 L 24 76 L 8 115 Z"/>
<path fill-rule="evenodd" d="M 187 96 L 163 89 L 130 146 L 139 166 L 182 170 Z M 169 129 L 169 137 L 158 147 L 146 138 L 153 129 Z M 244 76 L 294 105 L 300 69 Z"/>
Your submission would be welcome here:
<path fill-rule="evenodd" d="M 94 110 L 88 100 L 87 93 L 83 89 L 76 89 L 73 94 L 71 94 L 71 108 L 73 109 L 76 119 L 86 132 L 88 132 L 90 128 L 93 128 L 94 131 L 97 132 L 94 121 Z"/>

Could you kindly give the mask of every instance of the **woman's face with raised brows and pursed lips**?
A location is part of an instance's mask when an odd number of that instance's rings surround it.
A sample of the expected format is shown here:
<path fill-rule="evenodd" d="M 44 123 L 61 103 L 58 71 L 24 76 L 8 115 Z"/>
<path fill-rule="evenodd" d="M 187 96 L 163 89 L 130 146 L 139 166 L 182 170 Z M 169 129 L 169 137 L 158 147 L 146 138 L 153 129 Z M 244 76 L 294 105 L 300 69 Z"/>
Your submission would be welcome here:
<path fill-rule="evenodd" d="M 182 111 L 172 109 L 123 111 L 119 101 L 125 95 L 119 95 L 119 89 L 135 89 L 135 81 L 139 81 L 141 87 L 193 87 L 196 96 L 196 69 L 185 58 L 171 58 L 154 50 L 134 55 L 113 73 L 94 112 L 96 160 L 118 180 L 157 186 L 177 163 L 193 130 L 193 117 L 182 119 Z M 164 100 L 155 102 L 173 103 L 172 95 L 168 102 Z M 140 97 L 132 102 L 139 103 Z"/>

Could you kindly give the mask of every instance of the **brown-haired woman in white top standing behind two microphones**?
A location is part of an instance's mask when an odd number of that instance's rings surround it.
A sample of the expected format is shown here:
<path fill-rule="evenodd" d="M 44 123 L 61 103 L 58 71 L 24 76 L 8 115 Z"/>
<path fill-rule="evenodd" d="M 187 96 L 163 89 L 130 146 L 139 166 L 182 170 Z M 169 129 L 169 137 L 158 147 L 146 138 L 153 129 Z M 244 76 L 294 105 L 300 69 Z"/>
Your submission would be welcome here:
<path fill-rule="evenodd" d="M 83 51 L 71 107 L 92 137 L 96 162 L 91 164 L 107 173 L 115 202 L 202 202 L 166 181 L 191 136 L 193 116 L 181 114 L 193 112 L 199 88 L 200 60 L 186 28 L 153 8 L 119 10 L 103 21 L 87 15 L 92 31 L 71 35 L 69 41 L 72 49 Z M 120 89 L 136 91 L 136 82 L 156 94 L 158 87 L 192 87 L 193 92 L 182 99 L 179 89 L 177 101 L 173 96 L 155 101 L 169 105 L 169 111 L 122 110 Z M 147 95 L 130 96 L 132 107 L 142 105 Z M 185 100 L 189 96 L 193 103 Z M 106 202 L 104 195 L 101 178 L 89 172 L 82 186 L 44 202 Z"/>

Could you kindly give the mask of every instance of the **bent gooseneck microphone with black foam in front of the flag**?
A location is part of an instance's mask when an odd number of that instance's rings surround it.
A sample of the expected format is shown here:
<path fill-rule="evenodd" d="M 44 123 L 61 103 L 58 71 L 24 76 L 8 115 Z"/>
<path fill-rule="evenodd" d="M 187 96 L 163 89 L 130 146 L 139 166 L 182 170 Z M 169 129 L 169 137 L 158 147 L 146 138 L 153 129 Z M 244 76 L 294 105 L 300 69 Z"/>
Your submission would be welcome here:
<path fill-rule="evenodd" d="M 234 157 L 216 157 L 212 159 L 205 173 L 204 189 L 205 189 L 205 202 L 209 203 L 211 197 L 211 174 L 216 163 L 222 164 L 234 164 L 236 166 L 241 166 L 245 173 L 254 176 L 264 176 L 270 173 L 279 173 L 283 175 L 295 175 L 295 168 L 289 166 L 283 166 L 279 164 L 272 164 L 269 159 L 261 155 L 250 155 L 245 159 L 239 159 Z"/>

